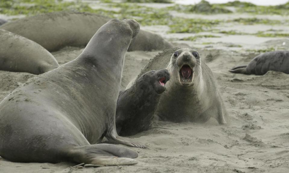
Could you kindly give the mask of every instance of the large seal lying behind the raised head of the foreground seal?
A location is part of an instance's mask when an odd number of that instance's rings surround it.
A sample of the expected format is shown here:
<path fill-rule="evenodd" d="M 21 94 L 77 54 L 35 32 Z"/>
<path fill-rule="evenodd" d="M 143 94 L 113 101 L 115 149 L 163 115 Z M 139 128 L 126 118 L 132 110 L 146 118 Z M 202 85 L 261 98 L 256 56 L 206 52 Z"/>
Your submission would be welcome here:
<path fill-rule="evenodd" d="M 86 46 L 94 33 L 109 20 L 109 17 L 97 14 L 53 12 L 18 19 L 0 29 L 33 40 L 53 52 L 65 46 Z M 128 50 L 151 51 L 171 47 L 161 36 L 140 30 Z"/>

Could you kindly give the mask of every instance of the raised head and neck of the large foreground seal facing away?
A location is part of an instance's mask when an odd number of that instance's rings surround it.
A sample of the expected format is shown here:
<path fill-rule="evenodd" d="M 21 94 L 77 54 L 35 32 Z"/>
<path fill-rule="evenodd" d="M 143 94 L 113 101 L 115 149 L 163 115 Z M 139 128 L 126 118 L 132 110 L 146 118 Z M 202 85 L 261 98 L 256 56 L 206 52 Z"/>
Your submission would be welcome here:
<path fill-rule="evenodd" d="M 124 25 L 125 22 L 127 24 Z M 103 25 L 76 60 L 85 60 L 86 63 L 92 64 L 99 71 L 99 74 L 102 74 L 100 78 L 103 81 L 112 81 L 109 83 L 118 84 L 111 87 L 119 91 L 124 56 L 131 39 L 139 32 L 140 26 L 130 20 L 113 19 L 108 23 L 113 23 L 116 27 Z M 119 35 L 123 37 L 119 37 Z M 117 49 L 115 49 L 116 47 Z"/>

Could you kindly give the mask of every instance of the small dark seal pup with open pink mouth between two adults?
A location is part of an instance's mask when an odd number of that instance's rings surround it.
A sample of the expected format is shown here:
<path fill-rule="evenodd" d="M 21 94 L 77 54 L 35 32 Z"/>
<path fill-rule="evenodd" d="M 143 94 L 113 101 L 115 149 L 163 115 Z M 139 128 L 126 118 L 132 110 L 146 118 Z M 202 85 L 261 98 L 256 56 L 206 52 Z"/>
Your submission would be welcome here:
<path fill-rule="evenodd" d="M 170 74 L 166 69 L 148 71 L 134 86 L 119 93 L 115 114 L 119 135 L 135 135 L 152 127 L 156 104 L 168 80 Z"/>

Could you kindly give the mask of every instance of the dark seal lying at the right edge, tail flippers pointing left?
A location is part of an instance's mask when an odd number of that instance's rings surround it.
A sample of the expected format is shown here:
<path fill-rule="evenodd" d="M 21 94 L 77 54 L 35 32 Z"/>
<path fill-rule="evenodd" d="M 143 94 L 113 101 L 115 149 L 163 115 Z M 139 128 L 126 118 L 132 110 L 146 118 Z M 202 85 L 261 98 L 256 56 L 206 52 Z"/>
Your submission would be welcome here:
<path fill-rule="evenodd" d="M 248 65 L 238 66 L 229 71 L 232 73 L 263 75 L 270 70 L 289 74 L 289 51 L 279 50 L 262 53 L 253 58 Z"/>

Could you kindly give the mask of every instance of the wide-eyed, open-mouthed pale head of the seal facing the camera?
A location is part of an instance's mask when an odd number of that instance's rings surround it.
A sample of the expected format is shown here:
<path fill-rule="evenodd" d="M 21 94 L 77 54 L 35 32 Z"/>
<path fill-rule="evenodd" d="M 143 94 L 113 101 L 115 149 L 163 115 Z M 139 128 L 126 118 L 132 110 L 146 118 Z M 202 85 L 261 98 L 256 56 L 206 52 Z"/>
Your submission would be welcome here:
<path fill-rule="evenodd" d="M 168 65 L 174 85 L 203 87 L 201 58 L 198 51 L 185 48 L 176 50 Z"/>

